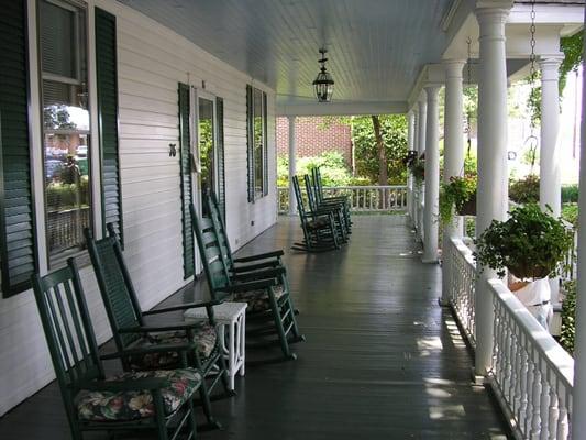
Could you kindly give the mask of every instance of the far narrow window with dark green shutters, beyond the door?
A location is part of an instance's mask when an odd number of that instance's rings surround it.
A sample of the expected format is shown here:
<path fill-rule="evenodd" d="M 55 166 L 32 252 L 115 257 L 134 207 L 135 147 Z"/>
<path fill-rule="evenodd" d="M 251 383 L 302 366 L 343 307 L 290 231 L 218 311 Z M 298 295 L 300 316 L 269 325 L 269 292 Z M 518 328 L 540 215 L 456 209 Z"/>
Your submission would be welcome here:
<path fill-rule="evenodd" d="M 268 194 L 266 94 L 256 88 L 247 90 L 248 111 L 248 201 Z"/>

